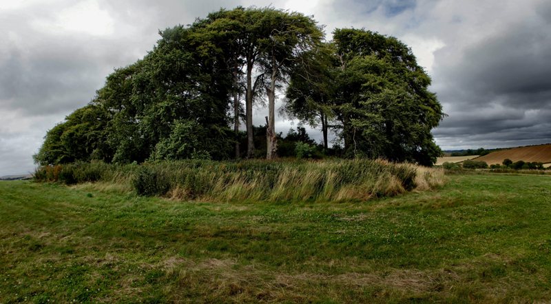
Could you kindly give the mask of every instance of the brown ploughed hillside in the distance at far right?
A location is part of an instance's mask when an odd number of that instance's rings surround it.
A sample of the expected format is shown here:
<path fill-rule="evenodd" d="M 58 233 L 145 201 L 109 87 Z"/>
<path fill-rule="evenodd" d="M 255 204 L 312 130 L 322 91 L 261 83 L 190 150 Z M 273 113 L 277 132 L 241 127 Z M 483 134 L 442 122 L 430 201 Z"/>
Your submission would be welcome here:
<path fill-rule="evenodd" d="M 501 164 L 503 163 L 503 159 L 551 163 L 551 143 L 499 150 L 476 158 L 477 161 L 486 161 L 488 165 L 494 163 Z"/>

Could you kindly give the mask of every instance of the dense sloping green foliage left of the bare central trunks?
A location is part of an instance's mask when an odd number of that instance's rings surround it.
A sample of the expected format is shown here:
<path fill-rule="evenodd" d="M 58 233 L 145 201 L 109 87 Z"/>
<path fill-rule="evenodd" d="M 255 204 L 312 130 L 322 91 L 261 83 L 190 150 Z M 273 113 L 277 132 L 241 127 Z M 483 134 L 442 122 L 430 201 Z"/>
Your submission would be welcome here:
<path fill-rule="evenodd" d="M 229 157 L 224 57 L 189 28 L 160 34 L 143 60 L 115 70 L 90 105 L 48 132 L 38 163 Z"/>

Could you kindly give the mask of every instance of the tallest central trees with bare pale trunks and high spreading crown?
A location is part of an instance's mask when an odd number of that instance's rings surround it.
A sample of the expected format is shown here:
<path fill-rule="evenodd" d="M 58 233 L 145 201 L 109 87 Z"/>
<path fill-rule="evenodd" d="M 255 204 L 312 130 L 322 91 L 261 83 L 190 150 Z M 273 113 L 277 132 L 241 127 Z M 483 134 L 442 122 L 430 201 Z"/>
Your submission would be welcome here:
<path fill-rule="evenodd" d="M 245 87 L 245 124 L 247 127 L 247 157 L 254 155 L 253 101 L 262 87 L 267 92 L 267 157 L 275 156 L 275 90 L 287 77 L 291 65 L 319 43 L 322 32 L 315 21 L 298 12 L 275 8 L 241 8 L 220 10 L 196 23 L 200 35 L 207 36 L 225 56 L 233 75 L 234 132 L 239 128 L 240 85 Z M 244 72 L 242 70 L 245 70 Z M 243 79 L 243 77 L 245 79 Z M 238 145 L 236 145 L 238 157 Z"/>

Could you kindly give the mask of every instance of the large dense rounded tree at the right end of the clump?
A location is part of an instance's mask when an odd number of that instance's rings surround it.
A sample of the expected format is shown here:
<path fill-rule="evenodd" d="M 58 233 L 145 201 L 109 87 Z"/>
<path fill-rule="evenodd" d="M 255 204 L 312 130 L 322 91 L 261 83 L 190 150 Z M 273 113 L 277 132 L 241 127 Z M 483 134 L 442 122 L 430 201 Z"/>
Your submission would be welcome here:
<path fill-rule="evenodd" d="M 334 109 L 345 153 L 435 163 L 441 150 L 430 130 L 445 114 L 410 48 L 368 30 L 335 30 L 333 39 L 341 70 Z"/>

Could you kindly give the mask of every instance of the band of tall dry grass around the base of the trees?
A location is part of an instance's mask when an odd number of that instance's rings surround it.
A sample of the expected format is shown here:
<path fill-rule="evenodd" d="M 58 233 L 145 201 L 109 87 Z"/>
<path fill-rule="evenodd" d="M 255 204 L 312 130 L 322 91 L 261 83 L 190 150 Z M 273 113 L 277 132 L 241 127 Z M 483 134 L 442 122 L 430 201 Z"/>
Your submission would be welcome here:
<path fill-rule="evenodd" d="M 134 189 L 141 195 L 200 201 L 365 201 L 430 190 L 445 181 L 441 169 L 364 159 L 75 163 L 39 168 L 35 178 L 99 182 L 101 188 L 114 191 Z"/>

